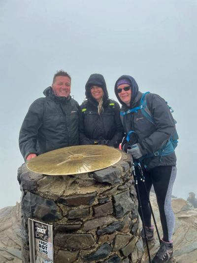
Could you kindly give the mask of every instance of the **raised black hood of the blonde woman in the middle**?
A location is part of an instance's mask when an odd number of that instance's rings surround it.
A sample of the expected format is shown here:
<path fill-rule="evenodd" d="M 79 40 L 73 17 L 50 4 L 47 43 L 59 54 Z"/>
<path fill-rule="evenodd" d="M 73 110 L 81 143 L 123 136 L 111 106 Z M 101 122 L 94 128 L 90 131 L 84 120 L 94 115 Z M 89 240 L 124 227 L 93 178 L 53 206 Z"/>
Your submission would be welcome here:
<path fill-rule="evenodd" d="M 96 101 L 90 92 L 90 88 L 93 85 L 97 85 L 97 86 L 102 88 L 102 90 L 103 90 L 103 98 L 102 99 L 103 99 L 103 102 L 106 102 L 106 100 L 108 99 L 109 96 L 108 96 L 108 91 L 107 91 L 107 87 L 106 87 L 106 83 L 105 83 L 103 75 L 92 74 L 92 75 L 90 75 L 90 77 L 86 83 L 86 98 Z"/>

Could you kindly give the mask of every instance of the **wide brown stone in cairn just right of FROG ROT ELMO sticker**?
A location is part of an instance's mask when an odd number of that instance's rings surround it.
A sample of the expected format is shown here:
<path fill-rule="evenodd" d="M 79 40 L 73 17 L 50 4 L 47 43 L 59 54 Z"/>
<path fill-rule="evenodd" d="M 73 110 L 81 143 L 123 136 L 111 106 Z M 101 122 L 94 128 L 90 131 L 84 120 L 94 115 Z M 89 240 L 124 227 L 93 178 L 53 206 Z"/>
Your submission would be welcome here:
<path fill-rule="evenodd" d="M 60 248 L 68 248 L 73 250 L 87 249 L 95 244 L 95 239 L 92 234 L 57 233 L 54 238 L 54 244 Z"/>

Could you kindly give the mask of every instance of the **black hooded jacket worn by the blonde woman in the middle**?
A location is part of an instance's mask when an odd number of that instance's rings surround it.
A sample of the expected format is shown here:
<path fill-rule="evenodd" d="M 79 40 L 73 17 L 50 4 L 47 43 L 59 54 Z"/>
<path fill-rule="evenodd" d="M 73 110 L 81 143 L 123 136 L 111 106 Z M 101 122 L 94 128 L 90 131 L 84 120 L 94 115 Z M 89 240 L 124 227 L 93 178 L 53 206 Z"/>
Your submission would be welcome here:
<path fill-rule="evenodd" d="M 103 113 L 98 113 L 98 102 L 92 97 L 90 88 L 98 85 L 103 89 Z M 80 106 L 79 140 L 81 145 L 107 145 L 118 147 L 123 139 L 120 106 L 108 99 L 104 77 L 92 74 L 86 83 L 87 100 Z"/>

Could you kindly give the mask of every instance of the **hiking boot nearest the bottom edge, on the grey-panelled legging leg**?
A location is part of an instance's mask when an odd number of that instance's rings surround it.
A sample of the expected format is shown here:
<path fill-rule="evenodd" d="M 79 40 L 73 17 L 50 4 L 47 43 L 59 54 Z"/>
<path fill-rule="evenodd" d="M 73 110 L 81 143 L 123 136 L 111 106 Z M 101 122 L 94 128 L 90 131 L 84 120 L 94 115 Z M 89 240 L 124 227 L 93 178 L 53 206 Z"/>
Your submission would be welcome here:
<path fill-rule="evenodd" d="M 167 263 L 172 257 L 173 243 L 161 241 L 160 248 L 153 258 L 152 263 Z"/>

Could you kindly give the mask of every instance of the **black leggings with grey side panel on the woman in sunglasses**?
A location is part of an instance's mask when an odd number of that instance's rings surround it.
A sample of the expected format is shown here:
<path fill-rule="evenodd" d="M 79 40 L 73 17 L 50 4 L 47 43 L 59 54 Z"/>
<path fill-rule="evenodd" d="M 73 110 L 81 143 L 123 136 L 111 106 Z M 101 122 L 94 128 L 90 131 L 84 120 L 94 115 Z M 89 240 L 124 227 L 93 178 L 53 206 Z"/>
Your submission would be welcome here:
<path fill-rule="evenodd" d="M 139 175 L 139 170 L 135 168 L 136 175 Z M 168 242 L 171 241 L 174 230 L 174 214 L 171 207 L 171 193 L 172 186 L 176 177 L 175 166 L 158 166 L 149 171 L 143 171 L 145 177 L 145 184 L 148 192 L 145 190 L 144 183 L 138 180 L 138 189 L 141 199 L 142 211 L 144 216 L 145 226 L 151 226 L 151 210 L 148 203 L 150 190 L 154 186 L 157 203 L 160 211 L 160 219 L 163 229 L 163 239 Z M 137 189 L 136 189 L 137 190 Z M 137 199 L 138 193 L 137 193 Z M 138 212 L 141 218 L 141 209 L 138 207 Z"/>

